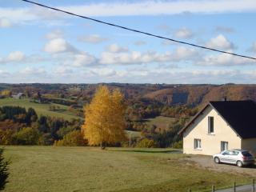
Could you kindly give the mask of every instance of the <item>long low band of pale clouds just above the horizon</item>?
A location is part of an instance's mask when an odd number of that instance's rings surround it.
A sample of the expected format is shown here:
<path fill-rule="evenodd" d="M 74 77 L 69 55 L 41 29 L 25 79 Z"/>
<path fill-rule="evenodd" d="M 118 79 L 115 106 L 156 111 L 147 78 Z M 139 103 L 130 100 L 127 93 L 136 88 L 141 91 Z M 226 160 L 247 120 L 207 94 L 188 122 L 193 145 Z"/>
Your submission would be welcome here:
<path fill-rule="evenodd" d="M 88 83 L 256 83 L 256 70 L 191 70 L 143 67 L 112 69 L 109 66 L 98 69 L 74 69 L 58 66 L 53 70 L 26 67 L 12 73 L 0 70 L 1 82 L 62 82 Z"/>

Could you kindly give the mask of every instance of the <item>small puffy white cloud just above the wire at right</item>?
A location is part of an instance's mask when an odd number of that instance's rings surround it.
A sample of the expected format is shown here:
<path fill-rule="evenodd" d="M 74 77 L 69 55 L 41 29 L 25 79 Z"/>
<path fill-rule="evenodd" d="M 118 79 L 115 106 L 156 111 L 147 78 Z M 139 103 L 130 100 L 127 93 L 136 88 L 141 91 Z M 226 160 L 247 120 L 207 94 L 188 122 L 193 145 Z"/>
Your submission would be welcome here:
<path fill-rule="evenodd" d="M 234 49 L 233 43 L 227 40 L 222 34 L 219 34 L 216 38 L 211 38 L 210 41 L 206 43 L 206 46 L 222 50 Z"/>

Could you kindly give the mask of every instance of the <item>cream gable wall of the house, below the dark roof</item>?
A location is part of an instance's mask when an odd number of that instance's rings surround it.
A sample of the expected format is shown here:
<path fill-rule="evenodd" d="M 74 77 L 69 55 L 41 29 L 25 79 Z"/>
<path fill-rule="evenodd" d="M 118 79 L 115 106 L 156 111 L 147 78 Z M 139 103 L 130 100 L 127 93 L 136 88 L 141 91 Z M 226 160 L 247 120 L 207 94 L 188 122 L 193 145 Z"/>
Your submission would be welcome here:
<path fill-rule="evenodd" d="M 214 117 L 214 134 L 208 134 L 208 116 Z M 200 150 L 194 149 L 195 138 L 201 139 L 202 147 Z M 218 154 L 221 152 L 221 142 L 228 142 L 228 149 L 241 149 L 242 147 L 242 139 L 212 106 L 208 106 L 206 110 L 203 111 L 203 114 L 200 114 L 184 131 L 183 153 Z"/>

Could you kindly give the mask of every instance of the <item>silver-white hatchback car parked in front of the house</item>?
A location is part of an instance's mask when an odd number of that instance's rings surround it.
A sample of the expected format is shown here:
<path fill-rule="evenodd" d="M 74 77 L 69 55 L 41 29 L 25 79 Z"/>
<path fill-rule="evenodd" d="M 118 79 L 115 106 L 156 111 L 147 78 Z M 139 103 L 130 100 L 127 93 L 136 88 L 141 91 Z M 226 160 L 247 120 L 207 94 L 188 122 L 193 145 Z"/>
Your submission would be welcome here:
<path fill-rule="evenodd" d="M 237 166 L 254 164 L 254 156 L 248 150 L 223 150 L 220 154 L 214 154 L 215 163 L 229 163 Z"/>

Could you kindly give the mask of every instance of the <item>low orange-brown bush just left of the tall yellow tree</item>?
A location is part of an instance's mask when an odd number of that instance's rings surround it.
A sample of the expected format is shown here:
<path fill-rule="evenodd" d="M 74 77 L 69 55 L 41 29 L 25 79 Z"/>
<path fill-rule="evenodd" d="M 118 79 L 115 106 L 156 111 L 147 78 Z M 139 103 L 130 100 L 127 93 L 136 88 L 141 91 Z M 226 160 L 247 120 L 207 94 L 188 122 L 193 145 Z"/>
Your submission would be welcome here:
<path fill-rule="evenodd" d="M 73 130 L 62 140 L 55 141 L 54 146 L 86 146 L 86 140 L 80 130 Z"/>

